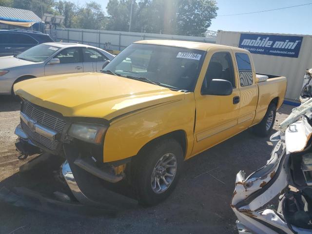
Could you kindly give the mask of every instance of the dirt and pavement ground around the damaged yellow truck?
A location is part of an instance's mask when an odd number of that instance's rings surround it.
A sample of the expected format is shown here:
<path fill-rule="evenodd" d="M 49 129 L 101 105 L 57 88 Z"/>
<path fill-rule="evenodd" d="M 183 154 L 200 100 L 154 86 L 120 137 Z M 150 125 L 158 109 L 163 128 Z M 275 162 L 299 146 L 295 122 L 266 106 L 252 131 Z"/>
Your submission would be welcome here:
<path fill-rule="evenodd" d="M 19 172 L 19 167 L 29 160 L 18 160 L 14 147 L 19 109 L 19 102 L 0 96 L 0 189 L 36 187 L 27 178 L 42 176 L 36 171 L 30 177 Z M 282 106 L 274 129 L 291 109 L 292 106 Z M 165 202 L 150 208 L 138 206 L 116 215 L 74 217 L 0 202 L 0 234 L 237 233 L 229 205 L 235 175 L 241 169 L 249 174 L 264 165 L 271 150 L 269 138 L 255 137 L 250 130 L 245 131 L 188 160 L 176 190 Z M 46 190 L 54 189 L 49 181 L 44 186 Z"/>

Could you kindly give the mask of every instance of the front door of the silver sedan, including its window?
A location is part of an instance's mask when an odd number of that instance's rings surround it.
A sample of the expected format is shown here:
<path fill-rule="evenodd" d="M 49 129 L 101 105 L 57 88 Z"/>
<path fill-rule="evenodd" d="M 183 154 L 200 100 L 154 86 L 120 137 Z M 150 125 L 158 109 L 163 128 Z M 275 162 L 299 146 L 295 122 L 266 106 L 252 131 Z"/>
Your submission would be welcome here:
<path fill-rule="evenodd" d="M 48 62 L 44 67 L 45 76 L 83 72 L 81 47 L 65 48 L 54 59 L 59 59 L 59 64 Z"/>

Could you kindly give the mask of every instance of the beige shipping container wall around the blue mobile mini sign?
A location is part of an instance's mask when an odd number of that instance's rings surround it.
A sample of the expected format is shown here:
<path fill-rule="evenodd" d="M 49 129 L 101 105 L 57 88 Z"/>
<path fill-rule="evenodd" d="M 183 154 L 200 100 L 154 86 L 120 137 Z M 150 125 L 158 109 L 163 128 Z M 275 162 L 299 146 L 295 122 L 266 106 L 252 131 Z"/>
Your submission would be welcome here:
<path fill-rule="evenodd" d="M 216 43 L 238 47 L 241 33 L 244 32 L 229 32 L 219 30 Z M 285 98 L 291 101 L 299 101 L 304 73 L 307 69 L 312 67 L 312 36 L 247 32 L 246 34 L 303 37 L 298 58 L 252 53 L 256 72 L 287 77 L 287 91 Z"/>

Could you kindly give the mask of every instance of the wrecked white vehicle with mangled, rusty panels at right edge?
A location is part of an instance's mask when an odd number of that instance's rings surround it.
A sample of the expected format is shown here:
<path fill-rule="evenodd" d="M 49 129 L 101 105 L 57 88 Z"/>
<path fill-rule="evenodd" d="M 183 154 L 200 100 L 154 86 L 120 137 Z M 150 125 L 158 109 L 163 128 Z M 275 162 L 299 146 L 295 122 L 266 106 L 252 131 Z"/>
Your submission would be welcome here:
<path fill-rule="evenodd" d="M 301 105 L 271 136 L 267 165 L 247 178 L 236 175 L 231 207 L 240 234 L 312 234 L 312 68 L 300 96 Z M 278 205 L 270 206 L 275 197 Z"/>

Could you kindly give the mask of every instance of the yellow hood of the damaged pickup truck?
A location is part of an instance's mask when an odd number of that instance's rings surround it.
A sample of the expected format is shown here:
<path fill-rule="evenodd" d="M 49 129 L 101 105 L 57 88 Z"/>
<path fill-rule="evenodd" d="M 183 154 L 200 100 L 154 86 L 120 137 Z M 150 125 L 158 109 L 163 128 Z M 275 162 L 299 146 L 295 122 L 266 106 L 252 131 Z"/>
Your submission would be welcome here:
<path fill-rule="evenodd" d="M 16 95 L 65 117 L 119 115 L 184 98 L 183 93 L 130 78 L 78 73 L 28 79 L 14 85 Z"/>

